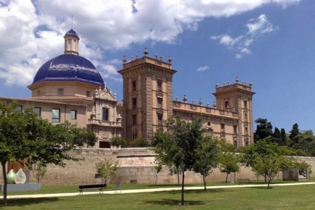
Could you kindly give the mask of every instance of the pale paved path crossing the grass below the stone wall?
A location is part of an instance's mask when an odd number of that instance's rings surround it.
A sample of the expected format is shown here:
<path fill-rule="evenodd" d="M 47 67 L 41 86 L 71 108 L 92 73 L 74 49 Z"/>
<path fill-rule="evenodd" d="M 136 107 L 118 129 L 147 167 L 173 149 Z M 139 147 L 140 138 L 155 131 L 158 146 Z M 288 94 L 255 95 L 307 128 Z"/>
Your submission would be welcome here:
<path fill-rule="evenodd" d="M 292 185 L 307 185 L 315 184 L 315 182 L 302 182 L 302 183 L 285 183 L 285 184 L 270 184 L 270 186 L 292 186 Z M 240 188 L 240 187 L 264 187 L 268 184 L 244 184 L 244 185 L 225 185 L 225 186 L 207 186 L 207 189 L 222 189 L 222 188 Z M 185 190 L 201 190 L 203 187 L 185 187 Z M 121 193 L 139 193 L 139 192 L 159 192 L 159 191 L 171 191 L 181 190 L 181 187 L 172 188 L 152 188 L 152 189 L 138 189 L 138 190 L 121 190 Z M 99 194 L 99 192 L 83 192 L 84 195 Z M 120 194 L 120 191 L 104 191 L 104 194 Z M 65 197 L 65 196 L 79 196 L 79 192 L 75 193 L 55 193 L 55 194 L 34 194 L 34 195 L 16 195 L 8 196 L 8 199 L 13 198 L 47 198 L 47 197 Z M 2 199 L 3 196 L 0 196 Z"/>

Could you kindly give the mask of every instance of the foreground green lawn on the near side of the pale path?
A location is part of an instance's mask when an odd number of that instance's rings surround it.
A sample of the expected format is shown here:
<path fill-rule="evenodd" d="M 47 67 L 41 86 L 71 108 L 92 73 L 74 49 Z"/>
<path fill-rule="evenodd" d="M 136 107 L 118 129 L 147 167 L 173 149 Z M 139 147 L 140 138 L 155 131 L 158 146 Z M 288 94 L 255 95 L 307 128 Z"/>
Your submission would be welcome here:
<path fill-rule="evenodd" d="M 314 209 L 314 185 L 9 199 L 0 209 Z"/>

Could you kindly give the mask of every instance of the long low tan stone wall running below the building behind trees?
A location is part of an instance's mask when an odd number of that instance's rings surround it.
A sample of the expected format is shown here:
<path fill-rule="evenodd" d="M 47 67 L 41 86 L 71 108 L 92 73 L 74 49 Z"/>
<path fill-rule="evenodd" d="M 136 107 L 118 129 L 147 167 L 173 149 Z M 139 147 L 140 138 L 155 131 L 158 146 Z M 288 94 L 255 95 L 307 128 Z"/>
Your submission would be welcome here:
<path fill-rule="evenodd" d="M 100 183 L 101 179 L 95 178 L 95 163 L 114 159 L 120 162 L 120 167 L 117 173 L 112 176 L 111 183 L 120 180 L 122 183 L 145 183 L 154 184 L 156 180 L 155 154 L 148 149 L 143 148 L 125 148 L 125 149 L 82 149 L 80 152 L 73 152 L 72 155 L 84 157 L 85 161 L 66 162 L 66 167 L 49 165 L 47 175 L 41 180 L 42 184 L 54 185 L 71 185 L 71 184 L 96 184 Z M 306 161 L 308 164 L 315 167 L 315 157 L 295 157 L 299 161 Z M 313 169 L 314 170 L 314 169 Z M 2 170 L 0 169 L 0 183 L 3 183 Z M 314 172 L 311 174 L 314 174 Z M 218 168 L 215 168 L 207 181 L 224 181 L 225 173 L 221 173 Z M 280 172 L 279 179 L 282 178 Z M 257 177 L 251 171 L 251 168 L 241 167 L 239 173 L 236 173 L 236 179 L 251 179 Z M 263 177 L 259 177 L 263 179 Z M 31 182 L 36 182 L 31 173 Z M 181 181 L 181 175 L 180 175 Z M 202 177 L 193 172 L 185 173 L 185 183 L 202 183 Z M 167 167 L 163 167 L 158 174 L 158 184 L 177 183 L 177 175 L 170 176 Z"/>

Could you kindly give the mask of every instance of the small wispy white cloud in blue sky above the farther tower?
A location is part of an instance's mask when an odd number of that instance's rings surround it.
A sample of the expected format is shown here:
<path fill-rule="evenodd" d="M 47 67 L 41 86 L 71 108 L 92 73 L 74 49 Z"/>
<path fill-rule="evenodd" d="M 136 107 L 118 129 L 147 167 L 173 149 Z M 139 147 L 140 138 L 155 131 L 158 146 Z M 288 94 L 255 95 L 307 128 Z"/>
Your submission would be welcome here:
<path fill-rule="evenodd" d="M 252 54 L 252 50 L 249 46 L 255 41 L 258 36 L 269 33 L 279 29 L 279 26 L 274 26 L 269 22 L 265 14 L 261 14 L 258 18 L 248 20 L 246 27 L 248 31 L 244 35 L 240 35 L 236 38 L 227 34 L 220 36 L 211 36 L 211 39 L 220 39 L 220 44 L 228 46 L 229 49 L 238 50 L 235 54 L 235 58 L 243 58 L 245 54 Z"/>

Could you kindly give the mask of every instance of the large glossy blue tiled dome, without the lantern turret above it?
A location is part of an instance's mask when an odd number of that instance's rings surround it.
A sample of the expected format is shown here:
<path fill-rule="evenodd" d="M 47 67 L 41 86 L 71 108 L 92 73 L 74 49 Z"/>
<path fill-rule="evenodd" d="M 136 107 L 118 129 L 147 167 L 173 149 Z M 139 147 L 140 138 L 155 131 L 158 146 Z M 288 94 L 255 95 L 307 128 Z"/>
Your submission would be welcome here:
<path fill-rule="evenodd" d="M 34 81 L 78 81 L 104 86 L 103 78 L 87 59 L 73 54 L 62 54 L 47 61 L 37 71 Z"/>

